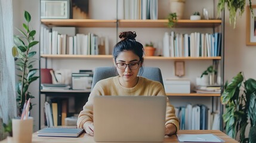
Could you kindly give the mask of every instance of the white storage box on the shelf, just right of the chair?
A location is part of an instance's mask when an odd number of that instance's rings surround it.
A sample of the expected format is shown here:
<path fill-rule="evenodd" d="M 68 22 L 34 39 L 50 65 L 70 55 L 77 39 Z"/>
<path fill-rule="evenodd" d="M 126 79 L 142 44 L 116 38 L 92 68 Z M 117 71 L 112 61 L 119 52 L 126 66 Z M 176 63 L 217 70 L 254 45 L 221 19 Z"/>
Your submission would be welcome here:
<path fill-rule="evenodd" d="M 164 81 L 165 92 L 171 94 L 189 94 L 190 80 L 166 79 Z"/>

